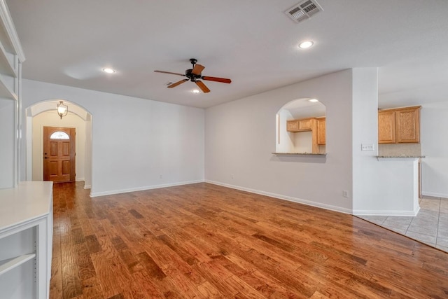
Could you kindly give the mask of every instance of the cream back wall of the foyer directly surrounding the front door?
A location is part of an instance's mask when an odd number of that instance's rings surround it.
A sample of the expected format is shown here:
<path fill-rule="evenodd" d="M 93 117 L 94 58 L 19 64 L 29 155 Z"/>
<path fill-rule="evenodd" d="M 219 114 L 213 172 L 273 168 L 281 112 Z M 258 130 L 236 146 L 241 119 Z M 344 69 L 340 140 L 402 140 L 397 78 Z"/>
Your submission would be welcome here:
<path fill-rule="evenodd" d="M 69 107 L 70 108 L 70 107 Z M 43 181 L 43 127 L 74 127 L 76 129 L 76 181 L 85 180 L 85 121 L 69 112 L 62 119 L 55 111 L 45 111 L 33 118 L 33 181 Z"/>

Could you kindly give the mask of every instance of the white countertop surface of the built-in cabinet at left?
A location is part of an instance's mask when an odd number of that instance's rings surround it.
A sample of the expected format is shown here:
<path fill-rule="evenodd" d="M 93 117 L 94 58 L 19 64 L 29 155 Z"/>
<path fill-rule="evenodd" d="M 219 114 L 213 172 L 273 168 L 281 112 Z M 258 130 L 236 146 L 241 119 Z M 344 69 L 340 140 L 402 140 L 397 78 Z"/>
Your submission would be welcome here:
<path fill-rule="evenodd" d="M 23 181 L 0 189 L 0 232 L 46 216 L 52 210 L 52 181 Z"/>

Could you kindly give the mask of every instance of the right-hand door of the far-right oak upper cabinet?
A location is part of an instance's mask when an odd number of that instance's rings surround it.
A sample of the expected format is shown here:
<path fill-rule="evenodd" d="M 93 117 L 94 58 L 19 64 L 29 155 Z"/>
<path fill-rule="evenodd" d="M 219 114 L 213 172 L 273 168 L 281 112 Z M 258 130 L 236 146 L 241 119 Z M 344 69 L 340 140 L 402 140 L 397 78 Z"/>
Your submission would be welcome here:
<path fill-rule="evenodd" d="M 419 143 L 420 108 L 395 111 L 397 143 Z"/>

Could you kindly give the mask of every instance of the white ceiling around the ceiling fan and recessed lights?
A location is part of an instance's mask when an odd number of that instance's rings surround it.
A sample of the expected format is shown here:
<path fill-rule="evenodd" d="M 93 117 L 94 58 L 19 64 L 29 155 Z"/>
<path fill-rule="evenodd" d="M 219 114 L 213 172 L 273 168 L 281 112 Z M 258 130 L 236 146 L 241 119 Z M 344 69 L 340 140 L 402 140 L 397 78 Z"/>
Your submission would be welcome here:
<path fill-rule="evenodd" d="M 6 0 L 22 76 L 36 81 L 197 107 L 353 67 L 379 67 L 380 95 L 446 89 L 448 1 L 317 1 L 323 12 L 296 24 L 283 12 L 298 0 Z M 297 49 L 306 39 L 314 46 Z M 183 73 L 191 57 L 232 83 L 195 95 L 153 72 Z"/>

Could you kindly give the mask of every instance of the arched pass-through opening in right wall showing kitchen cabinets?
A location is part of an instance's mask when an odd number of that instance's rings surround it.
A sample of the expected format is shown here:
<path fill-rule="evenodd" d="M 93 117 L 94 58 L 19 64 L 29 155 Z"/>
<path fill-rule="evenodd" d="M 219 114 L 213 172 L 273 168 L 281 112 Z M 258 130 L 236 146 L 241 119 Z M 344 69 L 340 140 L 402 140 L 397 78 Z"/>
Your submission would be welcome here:
<path fill-rule="evenodd" d="M 276 153 L 326 153 L 325 105 L 295 99 L 276 113 Z"/>

